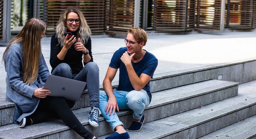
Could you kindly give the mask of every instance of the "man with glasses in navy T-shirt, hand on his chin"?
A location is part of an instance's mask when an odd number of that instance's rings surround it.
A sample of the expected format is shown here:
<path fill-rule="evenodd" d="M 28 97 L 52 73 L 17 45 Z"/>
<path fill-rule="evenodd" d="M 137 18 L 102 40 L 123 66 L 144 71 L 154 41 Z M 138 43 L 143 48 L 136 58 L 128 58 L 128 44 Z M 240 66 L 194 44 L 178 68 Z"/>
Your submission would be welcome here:
<path fill-rule="evenodd" d="M 147 34 L 141 28 L 130 28 L 124 40 L 126 47 L 119 48 L 109 64 L 103 87 L 100 91 L 100 111 L 110 123 L 114 132 L 106 139 L 129 139 L 129 134 L 119 121 L 116 111 L 133 110 L 130 132 L 140 131 L 145 120 L 144 109 L 151 101 L 149 81 L 153 78 L 158 59 L 142 49 L 147 42 Z M 111 82 L 119 68 L 119 85 L 113 91 Z"/>

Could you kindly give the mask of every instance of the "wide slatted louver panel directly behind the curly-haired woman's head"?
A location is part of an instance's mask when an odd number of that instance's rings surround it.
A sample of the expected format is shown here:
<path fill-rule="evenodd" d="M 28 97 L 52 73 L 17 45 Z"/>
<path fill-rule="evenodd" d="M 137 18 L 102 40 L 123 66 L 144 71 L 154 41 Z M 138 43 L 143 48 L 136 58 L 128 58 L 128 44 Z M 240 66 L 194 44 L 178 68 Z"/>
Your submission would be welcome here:
<path fill-rule="evenodd" d="M 67 7 L 78 7 L 84 14 L 93 34 L 104 32 L 105 0 L 46 0 L 47 34 L 55 32 L 60 13 Z"/>

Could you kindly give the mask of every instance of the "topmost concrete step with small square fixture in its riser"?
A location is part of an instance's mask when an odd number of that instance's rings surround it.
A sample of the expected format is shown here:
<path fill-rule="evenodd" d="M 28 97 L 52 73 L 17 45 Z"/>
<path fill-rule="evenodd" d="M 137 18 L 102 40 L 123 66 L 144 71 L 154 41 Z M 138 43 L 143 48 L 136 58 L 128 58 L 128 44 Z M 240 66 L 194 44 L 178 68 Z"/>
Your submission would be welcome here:
<path fill-rule="evenodd" d="M 46 59 L 46 61 L 49 60 Z M 256 60 L 248 59 L 238 60 L 229 64 L 206 65 L 197 68 L 186 68 L 184 70 L 155 74 L 154 78 L 150 81 L 150 92 L 154 93 L 212 79 L 244 83 L 256 80 L 256 70 L 252 70 L 255 68 Z M 112 83 L 113 87 L 118 85 L 116 79 L 118 79 L 118 76 Z M 0 126 L 13 123 L 14 115 L 14 103 L 5 100 L 5 79 L 2 80 L 2 83 L 3 84 L 0 85 Z M 102 84 L 100 85 L 100 89 L 103 89 Z M 73 110 L 88 107 L 88 98 L 87 91 L 82 93 L 80 100 L 75 104 Z"/>

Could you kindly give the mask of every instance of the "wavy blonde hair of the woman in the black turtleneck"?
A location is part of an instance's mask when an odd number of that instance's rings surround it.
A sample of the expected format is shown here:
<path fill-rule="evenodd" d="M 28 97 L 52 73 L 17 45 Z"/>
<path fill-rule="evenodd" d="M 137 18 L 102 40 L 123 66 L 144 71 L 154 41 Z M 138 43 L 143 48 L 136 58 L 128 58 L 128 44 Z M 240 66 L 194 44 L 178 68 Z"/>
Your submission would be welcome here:
<path fill-rule="evenodd" d="M 82 14 L 82 12 L 76 7 L 68 7 L 60 15 L 60 18 L 59 18 L 59 21 L 57 22 L 57 27 L 56 27 L 56 36 L 58 38 L 58 41 L 59 41 L 59 44 L 61 47 L 64 46 L 64 41 L 65 41 L 64 33 L 66 32 L 66 29 L 67 29 L 66 17 L 68 16 L 68 13 L 70 13 L 70 12 L 75 12 L 76 14 L 78 14 L 78 16 L 80 18 L 80 26 L 78 28 L 76 38 L 80 37 L 82 44 L 85 44 L 85 42 L 87 42 L 87 40 L 91 36 L 91 30 L 90 30 L 89 26 L 87 25 L 87 22 L 85 20 L 84 15 Z"/>

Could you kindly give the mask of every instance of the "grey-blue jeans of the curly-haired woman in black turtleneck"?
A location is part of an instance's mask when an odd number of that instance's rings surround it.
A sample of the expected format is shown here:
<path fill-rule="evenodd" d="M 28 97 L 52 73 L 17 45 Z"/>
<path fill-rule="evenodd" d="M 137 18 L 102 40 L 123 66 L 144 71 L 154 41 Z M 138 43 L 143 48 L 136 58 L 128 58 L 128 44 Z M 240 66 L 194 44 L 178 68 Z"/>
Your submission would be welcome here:
<path fill-rule="evenodd" d="M 70 66 L 66 63 L 61 63 L 53 70 L 52 75 L 86 82 L 85 89 L 89 93 L 91 108 L 99 107 L 100 79 L 99 69 L 95 62 L 87 63 L 78 74 L 73 75 Z"/>

